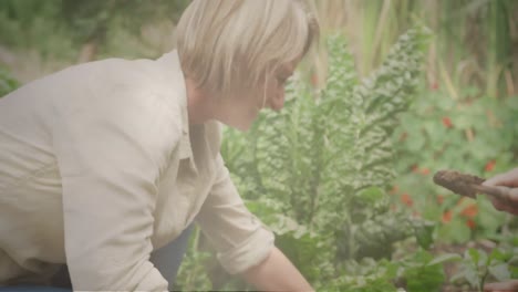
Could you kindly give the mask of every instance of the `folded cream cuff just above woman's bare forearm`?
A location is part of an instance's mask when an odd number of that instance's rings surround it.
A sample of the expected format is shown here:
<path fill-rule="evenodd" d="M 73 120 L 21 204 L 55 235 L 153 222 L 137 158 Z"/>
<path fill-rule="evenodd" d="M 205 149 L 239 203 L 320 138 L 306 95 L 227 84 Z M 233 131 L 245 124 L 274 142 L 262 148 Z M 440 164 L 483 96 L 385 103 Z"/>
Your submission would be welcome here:
<path fill-rule="evenodd" d="M 231 250 L 219 252 L 217 257 L 228 273 L 241 273 L 261 263 L 270 254 L 273 241 L 273 233 L 261 227 L 245 242 Z"/>

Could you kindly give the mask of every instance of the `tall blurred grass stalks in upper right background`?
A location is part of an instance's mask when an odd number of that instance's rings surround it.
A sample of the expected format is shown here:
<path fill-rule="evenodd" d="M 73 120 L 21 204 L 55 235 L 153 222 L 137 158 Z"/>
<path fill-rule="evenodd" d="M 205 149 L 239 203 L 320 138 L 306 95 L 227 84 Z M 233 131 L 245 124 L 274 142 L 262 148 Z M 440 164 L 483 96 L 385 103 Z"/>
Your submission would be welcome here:
<path fill-rule="evenodd" d="M 313 0 L 313 4 L 324 34 L 341 31 L 350 36 L 361 75 L 380 64 L 396 35 L 419 21 L 436 35 L 427 59 L 431 86 L 446 86 L 453 98 L 465 86 L 491 96 L 516 94 L 518 1 Z"/>

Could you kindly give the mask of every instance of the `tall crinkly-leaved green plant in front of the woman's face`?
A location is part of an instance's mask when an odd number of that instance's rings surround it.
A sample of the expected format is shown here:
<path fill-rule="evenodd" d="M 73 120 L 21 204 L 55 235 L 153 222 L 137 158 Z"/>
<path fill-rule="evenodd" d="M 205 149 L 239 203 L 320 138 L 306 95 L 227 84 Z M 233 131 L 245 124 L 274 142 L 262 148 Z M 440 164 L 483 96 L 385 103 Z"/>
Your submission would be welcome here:
<path fill-rule="evenodd" d="M 296 76 L 280 114 L 262 114 L 247 135 L 226 132 L 221 153 L 240 192 L 317 289 L 345 289 L 341 267 L 390 259 L 398 240 L 431 244 L 433 226 L 392 212 L 386 195 L 396 175 L 391 135 L 415 95 L 428 36 L 410 30 L 365 80 L 344 38 L 332 36 L 323 90 Z"/>

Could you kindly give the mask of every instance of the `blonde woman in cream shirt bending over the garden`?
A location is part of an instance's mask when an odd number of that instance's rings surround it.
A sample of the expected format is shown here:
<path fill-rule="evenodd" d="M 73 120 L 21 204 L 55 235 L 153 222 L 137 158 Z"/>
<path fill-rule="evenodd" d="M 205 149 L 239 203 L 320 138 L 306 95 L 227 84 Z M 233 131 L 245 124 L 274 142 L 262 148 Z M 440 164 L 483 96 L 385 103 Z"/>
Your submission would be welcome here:
<path fill-rule="evenodd" d="M 196 221 L 228 272 L 311 290 L 230 181 L 219 122 L 246 131 L 282 108 L 317 35 L 301 1 L 194 0 L 177 51 L 72 66 L 1 98 L 0 285 L 45 285 L 66 264 L 74 290 L 164 291 Z"/>

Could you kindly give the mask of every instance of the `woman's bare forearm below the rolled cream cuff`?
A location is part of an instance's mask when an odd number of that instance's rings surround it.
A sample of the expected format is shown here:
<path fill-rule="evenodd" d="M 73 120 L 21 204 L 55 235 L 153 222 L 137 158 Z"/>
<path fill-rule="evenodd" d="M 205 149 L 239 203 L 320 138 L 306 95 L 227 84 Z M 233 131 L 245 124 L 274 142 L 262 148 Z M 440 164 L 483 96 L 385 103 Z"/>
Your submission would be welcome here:
<path fill-rule="evenodd" d="M 248 269 L 244 277 L 261 291 L 314 291 L 278 248 L 261 263 Z"/>

